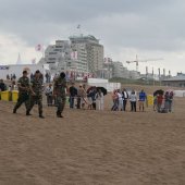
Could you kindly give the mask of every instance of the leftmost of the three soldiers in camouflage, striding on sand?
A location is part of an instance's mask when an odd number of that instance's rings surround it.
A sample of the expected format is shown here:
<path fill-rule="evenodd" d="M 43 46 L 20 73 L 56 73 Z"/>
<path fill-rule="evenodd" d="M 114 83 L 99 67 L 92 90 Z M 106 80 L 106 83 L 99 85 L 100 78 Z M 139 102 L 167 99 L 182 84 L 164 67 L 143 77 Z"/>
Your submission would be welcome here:
<path fill-rule="evenodd" d="M 26 109 L 28 108 L 28 94 L 29 94 L 29 78 L 27 77 L 27 71 L 23 71 L 23 76 L 20 77 L 17 82 L 18 86 L 18 99 L 13 109 L 13 113 L 16 113 L 16 110 L 25 103 Z"/>

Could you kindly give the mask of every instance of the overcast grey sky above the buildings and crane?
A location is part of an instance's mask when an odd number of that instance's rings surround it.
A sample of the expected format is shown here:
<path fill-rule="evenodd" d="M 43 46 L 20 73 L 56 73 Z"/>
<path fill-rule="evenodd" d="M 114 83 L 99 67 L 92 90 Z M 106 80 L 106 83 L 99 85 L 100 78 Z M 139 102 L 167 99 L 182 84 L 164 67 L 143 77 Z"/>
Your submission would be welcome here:
<path fill-rule="evenodd" d="M 94 35 L 104 57 L 185 73 L 185 0 L 0 0 L 0 64 L 37 61 L 37 44 L 48 46 L 70 35 Z M 77 25 L 81 24 L 81 30 Z"/>

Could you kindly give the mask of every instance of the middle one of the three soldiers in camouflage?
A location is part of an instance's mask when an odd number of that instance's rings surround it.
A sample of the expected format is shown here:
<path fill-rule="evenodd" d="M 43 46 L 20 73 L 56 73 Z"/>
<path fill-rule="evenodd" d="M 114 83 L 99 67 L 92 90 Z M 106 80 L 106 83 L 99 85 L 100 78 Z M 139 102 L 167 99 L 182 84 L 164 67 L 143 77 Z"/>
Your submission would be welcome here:
<path fill-rule="evenodd" d="M 37 70 L 33 81 L 30 82 L 30 90 L 33 91 L 29 96 L 29 107 L 26 110 L 26 115 L 30 115 L 30 110 L 34 104 L 38 103 L 38 113 L 39 118 L 44 119 L 42 115 L 42 78 L 40 77 L 41 73 Z"/>

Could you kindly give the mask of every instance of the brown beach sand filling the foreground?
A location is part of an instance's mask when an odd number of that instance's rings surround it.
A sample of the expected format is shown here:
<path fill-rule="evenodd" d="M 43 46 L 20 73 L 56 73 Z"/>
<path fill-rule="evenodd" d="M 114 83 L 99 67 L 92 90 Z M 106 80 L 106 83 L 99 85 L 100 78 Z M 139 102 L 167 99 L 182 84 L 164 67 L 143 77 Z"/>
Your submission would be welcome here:
<path fill-rule="evenodd" d="M 184 185 L 185 98 L 173 113 L 64 110 L 39 119 L 0 101 L 0 185 Z"/>

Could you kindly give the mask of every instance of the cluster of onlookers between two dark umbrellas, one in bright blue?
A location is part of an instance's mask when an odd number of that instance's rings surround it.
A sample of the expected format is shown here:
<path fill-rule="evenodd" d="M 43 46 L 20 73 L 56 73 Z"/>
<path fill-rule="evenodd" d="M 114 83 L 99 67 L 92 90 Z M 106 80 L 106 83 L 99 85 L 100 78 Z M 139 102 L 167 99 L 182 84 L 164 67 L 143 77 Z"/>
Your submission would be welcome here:
<path fill-rule="evenodd" d="M 145 102 L 147 101 L 147 94 L 144 89 L 140 90 L 138 98 L 135 90 L 131 90 L 130 92 L 124 88 L 115 89 L 112 94 L 113 106 L 111 108 L 112 111 L 126 111 L 127 101 L 131 103 L 131 111 L 136 112 L 137 110 L 137 100 L 139 103 L 139 111 L 145 111 Z"/>

